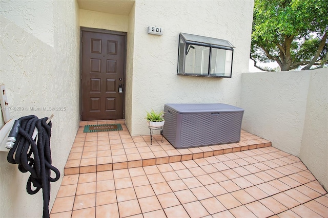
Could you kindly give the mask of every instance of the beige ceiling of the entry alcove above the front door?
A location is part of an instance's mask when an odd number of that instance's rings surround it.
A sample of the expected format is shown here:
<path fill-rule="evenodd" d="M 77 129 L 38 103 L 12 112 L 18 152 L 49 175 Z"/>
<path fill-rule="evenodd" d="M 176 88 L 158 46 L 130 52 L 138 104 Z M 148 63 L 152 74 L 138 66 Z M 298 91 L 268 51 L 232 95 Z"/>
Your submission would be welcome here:
<path fill-rule="evenodd" d="M 77 0 L 80 9 L 129 15 L 135 0 Z"/>

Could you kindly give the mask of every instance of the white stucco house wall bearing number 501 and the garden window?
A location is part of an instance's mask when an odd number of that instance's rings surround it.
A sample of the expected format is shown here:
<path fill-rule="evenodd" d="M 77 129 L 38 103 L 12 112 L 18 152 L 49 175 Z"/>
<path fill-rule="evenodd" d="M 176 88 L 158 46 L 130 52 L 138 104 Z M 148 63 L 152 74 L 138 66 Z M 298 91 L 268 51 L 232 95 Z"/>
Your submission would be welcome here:
<path fill-rule="evenodd" d="M 130 133 L 149 134 L 146 111 L 163 110 L 165 103 L 239 106 L 241 72 L 248 71 L 252 16 L 253 1 L 136 1 Z M 163 35 L 148 34 L 148 26 L 162 27 Z M 178 76 L 180 32 L 232 43 L 236 47 L 232 78 Z"/>

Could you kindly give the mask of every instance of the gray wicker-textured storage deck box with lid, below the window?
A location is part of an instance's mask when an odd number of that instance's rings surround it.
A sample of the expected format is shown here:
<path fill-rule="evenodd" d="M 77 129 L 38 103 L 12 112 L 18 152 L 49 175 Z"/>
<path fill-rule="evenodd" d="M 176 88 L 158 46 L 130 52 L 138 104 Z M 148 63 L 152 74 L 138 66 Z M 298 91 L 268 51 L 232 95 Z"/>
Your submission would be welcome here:
<path fill-rule="evenodd" d="M 163 136 L 176 148 L 239 142 L 243 113 L 229 104 L 165 104 Z"/>

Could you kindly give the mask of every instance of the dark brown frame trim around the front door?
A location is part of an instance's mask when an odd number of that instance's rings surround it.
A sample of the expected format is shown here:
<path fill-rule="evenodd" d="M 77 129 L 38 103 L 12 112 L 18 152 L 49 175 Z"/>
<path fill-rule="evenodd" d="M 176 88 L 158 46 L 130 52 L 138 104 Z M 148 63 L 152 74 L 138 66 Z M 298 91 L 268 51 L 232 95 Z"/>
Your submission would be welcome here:
<path fill-rule="evenodd" d="M 125 49 L 124 49 L 124 81 L 125 81 L 125 87 L 126 85 L 126 69 L 127 69 L 127 32 L 120 32 L 120 31 L 114 31 L 114 30 L 105 30 L 105 29 L 96 29 L 96 28 L 89 28 L 89 27 L 80 27 L 80 54 L 79 54 L 79 120 L 82 120 L 82 37 L 83 37 L 83 32 L 93 32 L 93 33 L 106 33 L 106 34 L 112 34 L 112 35 L 120 35 L 124 36 L 125 41 Z M 126 89 L 125 89 L 126 90 Z M 123 119 L 125 119 L 125 93 L 123 93 L 123 105 L 122 105 L 122 113 L 123 113 Z"/>

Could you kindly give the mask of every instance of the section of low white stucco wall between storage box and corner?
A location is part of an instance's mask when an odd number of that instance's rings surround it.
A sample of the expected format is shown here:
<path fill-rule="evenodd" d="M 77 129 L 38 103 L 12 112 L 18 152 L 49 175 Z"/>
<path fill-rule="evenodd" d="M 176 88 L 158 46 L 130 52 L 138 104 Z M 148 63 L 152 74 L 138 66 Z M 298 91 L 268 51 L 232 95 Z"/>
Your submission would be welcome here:
<path fill-rule="evenodd" d="M 242 128 L 290 154 L 299 155 L 310 73 L 243 73 Z"/>

